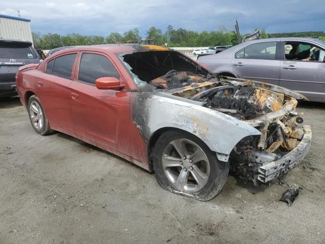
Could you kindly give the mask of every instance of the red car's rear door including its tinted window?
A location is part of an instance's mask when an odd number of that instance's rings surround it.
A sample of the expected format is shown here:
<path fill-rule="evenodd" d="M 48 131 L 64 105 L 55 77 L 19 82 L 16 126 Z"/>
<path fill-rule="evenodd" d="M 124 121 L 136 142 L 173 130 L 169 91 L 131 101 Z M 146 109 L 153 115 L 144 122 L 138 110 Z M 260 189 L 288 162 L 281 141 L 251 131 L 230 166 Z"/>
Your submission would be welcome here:
<path fill-rule="evenodd" d="M 47 62 L 38 78 L 38 97 L 51 126 L 73 133 L 69 86 L 78 52 L 64 53 Z"/>

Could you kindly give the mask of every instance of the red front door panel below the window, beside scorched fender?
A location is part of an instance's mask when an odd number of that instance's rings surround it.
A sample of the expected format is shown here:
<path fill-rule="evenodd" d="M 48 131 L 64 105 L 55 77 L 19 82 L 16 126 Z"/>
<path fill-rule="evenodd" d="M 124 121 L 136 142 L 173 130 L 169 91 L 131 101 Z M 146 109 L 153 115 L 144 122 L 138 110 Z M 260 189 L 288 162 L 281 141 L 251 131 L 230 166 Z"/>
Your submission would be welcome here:
<path fill-rule="evenodd" d="M 125 138 L 121 134 L 129 128 L 130 93 L 100 90 L 96 86 L 74 81 L 70 86 L 70 101 L 75 133 L 126 153 Z M 120 128 L 121 125 L 123 128 Z"/>

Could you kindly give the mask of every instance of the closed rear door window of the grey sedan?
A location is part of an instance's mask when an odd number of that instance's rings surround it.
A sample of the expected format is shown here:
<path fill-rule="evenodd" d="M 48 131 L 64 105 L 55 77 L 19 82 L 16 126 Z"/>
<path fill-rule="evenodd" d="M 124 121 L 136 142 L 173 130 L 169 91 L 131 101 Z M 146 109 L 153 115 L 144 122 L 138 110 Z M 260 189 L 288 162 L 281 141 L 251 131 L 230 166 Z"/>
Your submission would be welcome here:
<path fill-rule="evenodd" d="M 276 59 L 276 42 L 261 42 L 251 44 L 236 54 L 236 58 Z"/>

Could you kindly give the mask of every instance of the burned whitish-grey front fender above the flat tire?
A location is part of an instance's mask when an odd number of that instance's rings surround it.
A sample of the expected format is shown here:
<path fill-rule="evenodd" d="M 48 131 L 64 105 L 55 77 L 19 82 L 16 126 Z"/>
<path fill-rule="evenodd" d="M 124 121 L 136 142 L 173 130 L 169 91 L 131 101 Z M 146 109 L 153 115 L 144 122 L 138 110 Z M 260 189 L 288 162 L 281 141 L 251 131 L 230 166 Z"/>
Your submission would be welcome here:
<path fill-rule="evenodd" d="M 245 121 L 168 93 L 135 93 L 133 119 L 148 143 L 153 133 L 172 127 L 199 137 L 219 154 L 229 155 L 244 137 L 261 135 Z"/>

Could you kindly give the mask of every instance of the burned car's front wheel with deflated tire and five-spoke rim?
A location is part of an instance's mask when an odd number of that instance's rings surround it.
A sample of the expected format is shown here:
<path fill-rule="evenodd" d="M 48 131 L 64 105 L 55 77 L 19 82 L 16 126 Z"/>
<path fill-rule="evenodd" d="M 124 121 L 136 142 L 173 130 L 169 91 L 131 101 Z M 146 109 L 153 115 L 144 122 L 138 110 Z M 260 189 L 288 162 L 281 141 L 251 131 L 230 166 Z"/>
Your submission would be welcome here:
<path fill-rule="evenodd" d="M 219 162 L 202 140 L 177 130 L 158 138 L 153 167 L 161 187 L 202 201 L 221 191 L 229 172 L 229 162 Z"/>

